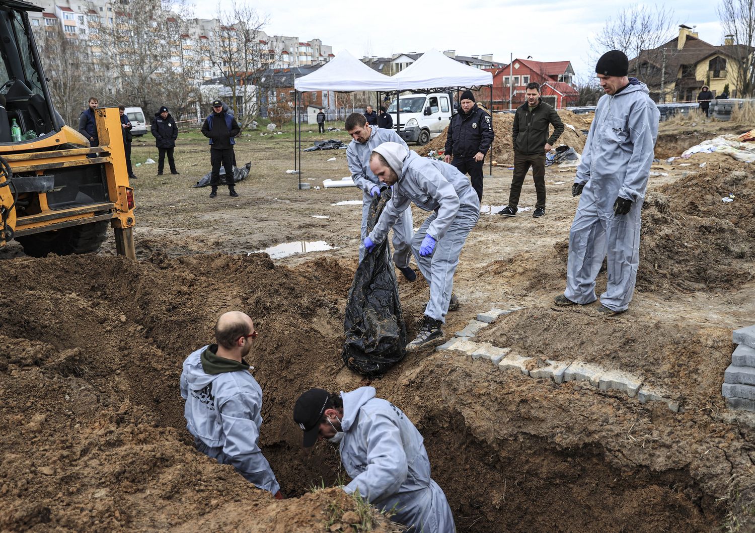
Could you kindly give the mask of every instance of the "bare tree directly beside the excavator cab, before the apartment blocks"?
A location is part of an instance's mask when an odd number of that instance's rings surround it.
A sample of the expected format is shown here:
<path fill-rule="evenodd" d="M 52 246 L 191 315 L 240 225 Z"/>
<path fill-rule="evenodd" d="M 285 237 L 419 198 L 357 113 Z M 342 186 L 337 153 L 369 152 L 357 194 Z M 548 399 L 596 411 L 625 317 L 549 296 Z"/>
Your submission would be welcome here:
<path fill-rule="evenodd" d="M 93 83 L 89 70 L 88 44 L 69 37 L 60 26 L 38 26 L 36 35 L 45 63 L 50 93 L 55 109 L 66 124 L 76 127 L 79 114 L 86 109 L 90 96 L 99 96 L 101 87 Z"/>

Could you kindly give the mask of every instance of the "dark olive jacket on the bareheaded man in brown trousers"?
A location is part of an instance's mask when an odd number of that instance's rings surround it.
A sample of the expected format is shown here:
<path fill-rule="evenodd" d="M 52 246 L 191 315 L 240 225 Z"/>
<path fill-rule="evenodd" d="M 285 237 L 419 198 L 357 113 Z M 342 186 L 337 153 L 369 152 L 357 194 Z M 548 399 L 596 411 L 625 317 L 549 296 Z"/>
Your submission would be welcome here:
<path fill-rule="evenodd" d="M 553 133 L 548 136 L 548 126 L 553 124 Z M 553 144 L 564 133 L 564 123 L 556 109 L 541 101 L 532 111 L 525 102 L 516 108 L 511 141 L 520 154 L 545 155 L 545 145 Z"/>

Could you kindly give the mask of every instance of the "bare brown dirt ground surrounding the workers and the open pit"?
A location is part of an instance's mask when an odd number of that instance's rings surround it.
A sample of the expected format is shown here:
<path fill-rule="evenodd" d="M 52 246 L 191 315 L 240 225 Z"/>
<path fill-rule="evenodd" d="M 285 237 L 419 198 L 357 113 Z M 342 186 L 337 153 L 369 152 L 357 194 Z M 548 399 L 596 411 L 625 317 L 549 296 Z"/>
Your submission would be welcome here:
<path fill-rule="evenodd" d="M 202 139 L 180 144 L 181 176 L 137 168 L 136 262 L 112 256 L 112 237 L 100 255 L 0 250 L 0 530 L 328 531 L 334 507 L 351 508 L 340 489 L 308 492 L 343 472 L 330 444 L 302 451 L 291 410 L 308 387 L 365 384 L 340 359 L 361 208 L 331 205 L 359 195 L 298 191 L 284 173 L 290 146 L 239 142 L 237 158 L 254 166 L 238 199 L 190 188 L 208 166 Z M 137 146 L 135 158 L 152 151 Z M 303 157 L 302 180 L 313 185 L 348 173 L 343 152 Z M 652 178 L 627 313 L 606 320 L 596 306 L 553 308 L 577 199 L 572 174 L 549 169 L 547 216 L 484 214 L 470 234 L 455 277 L 461 311 L 444 328 L 450 335 L 478 311 L 522 305 L 479 340 L 636 372 L 682 412 L 430 351 L 371 382 L 423 433 L 459 531 L 753 528 L 755 421 L 726 410 L 720 387 L 732 328 L 755 323 L 755 188 L 747 165 L 705 161 L 674 161 L 658 167 L 669 176 Z M 509 185 L 510 171 L 494 169 L 486 207 L 505 203 Z M 729 192 L 737 198 L 723 204 Z M 525 183 L 520 207 L 534 198 Z M 414 225 L 424 216 L 415 210 Z M 337 249 L 247 256 L 297 240 Z M 605 283 L 601 274 L 598 289 Z M 427 285 L 399 279 L 399 293 L 411 335 Z M 260 444 L 285 501 L 196 452 L 185 429 L 181 363 L 230 309 L 260 332 L 249 356 L 264 392 Z M 390 527 L 382 520 L 376 530 Z"/>

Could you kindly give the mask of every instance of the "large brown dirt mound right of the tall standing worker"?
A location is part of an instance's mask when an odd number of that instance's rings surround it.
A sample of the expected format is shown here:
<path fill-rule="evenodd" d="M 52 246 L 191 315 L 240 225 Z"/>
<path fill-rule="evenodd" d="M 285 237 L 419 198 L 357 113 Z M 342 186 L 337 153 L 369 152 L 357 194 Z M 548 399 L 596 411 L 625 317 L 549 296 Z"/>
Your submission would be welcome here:
<path fill-rule="evenodd" d="M 648 195 L 639 290 L 730 289 L 755 277 L 755 180 L 738 167 L 707 164 Z"/>

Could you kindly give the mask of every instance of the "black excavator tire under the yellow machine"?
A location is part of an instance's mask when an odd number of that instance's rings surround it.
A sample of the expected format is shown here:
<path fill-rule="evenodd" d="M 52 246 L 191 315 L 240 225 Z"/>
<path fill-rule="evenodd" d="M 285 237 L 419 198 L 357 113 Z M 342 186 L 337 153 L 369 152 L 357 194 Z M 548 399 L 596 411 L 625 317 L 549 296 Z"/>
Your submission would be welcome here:
<path fill-rule="evenodd" d="M 92 253 L 97 252 L 106 240 L 108 225 L 107 221 L 92 222 L 26 235 L 17 240 L 23 247 L 23 253 L 31 257 L 47 257 L 49 253 L 57 253 L 58 256 Z"/>

